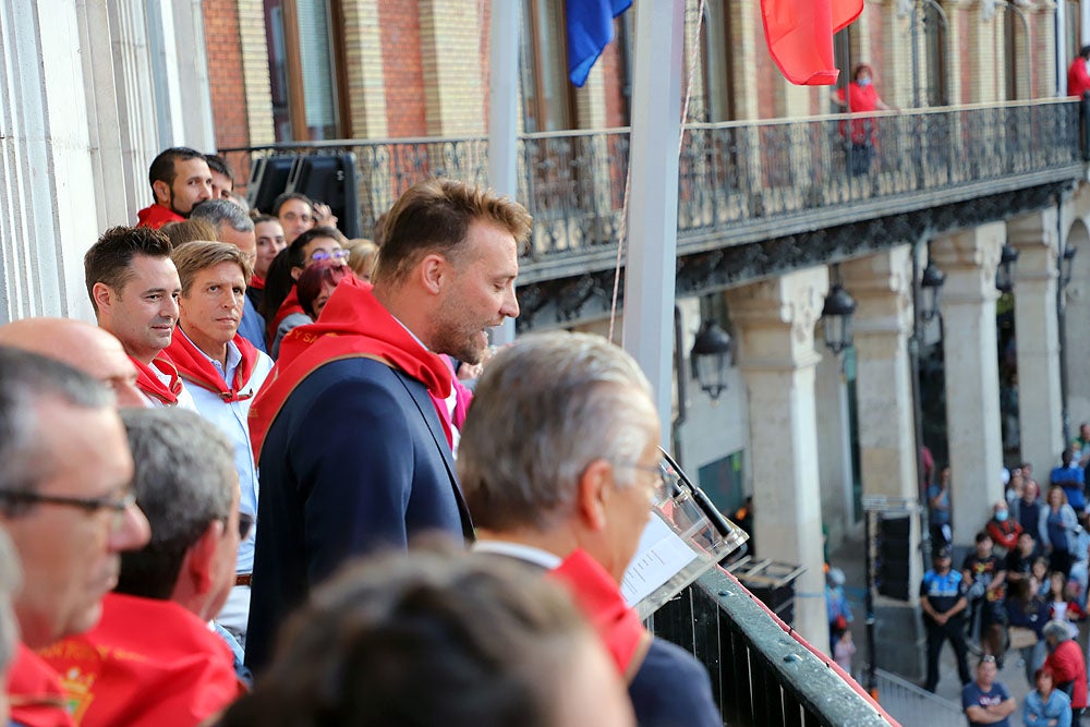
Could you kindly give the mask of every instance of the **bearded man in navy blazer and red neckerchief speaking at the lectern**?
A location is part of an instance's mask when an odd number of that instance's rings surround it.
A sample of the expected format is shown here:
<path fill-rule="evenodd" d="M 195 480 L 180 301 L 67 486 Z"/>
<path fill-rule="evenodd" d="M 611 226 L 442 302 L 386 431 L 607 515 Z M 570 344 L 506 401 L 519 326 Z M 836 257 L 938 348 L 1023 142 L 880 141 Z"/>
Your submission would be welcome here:
<path fill-rule="evenodd" d="M 422 532 L 472 540 L 451 455 L 450 367 L 477 363 L 487 331 L 519 314 L 518 203 L 460 182 L 407 191 L 372 276 L 284 338 L 251 408 L 262 493 L 246 664 L 348 558 L 405 548 Z"/>

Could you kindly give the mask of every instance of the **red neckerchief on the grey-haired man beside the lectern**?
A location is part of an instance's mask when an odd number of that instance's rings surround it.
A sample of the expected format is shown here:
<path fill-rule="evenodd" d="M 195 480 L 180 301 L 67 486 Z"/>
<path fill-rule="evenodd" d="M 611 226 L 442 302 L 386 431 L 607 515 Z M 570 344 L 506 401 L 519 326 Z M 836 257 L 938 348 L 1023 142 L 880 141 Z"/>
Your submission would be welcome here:
<path fill-rule="evenodd" d="M 568 586 L 579 609 L 605 643 L 617 669 L 627 674 L 646 631 L 635 609 L 625 603 L 617 581 L 581 549 L 565 558 L 549 575 Z"/>

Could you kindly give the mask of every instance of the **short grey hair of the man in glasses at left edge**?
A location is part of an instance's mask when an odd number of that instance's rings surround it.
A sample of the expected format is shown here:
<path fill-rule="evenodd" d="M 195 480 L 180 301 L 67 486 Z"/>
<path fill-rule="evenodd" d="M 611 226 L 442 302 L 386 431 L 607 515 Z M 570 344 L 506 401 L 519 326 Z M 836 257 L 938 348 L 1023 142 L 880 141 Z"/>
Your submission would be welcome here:
<path fill-rule="evenodd" d="M 39 404 L 55 400 L 80 409 L 111 409 L 113 392 L 101 381 L 53 359 L 0 347 L 0 490 L 34 490 L 52 473 L 53 452 L 43 436 L 48 422 Z M 15 517 L 26 505 L 0 498 L 0 512 Z"/>

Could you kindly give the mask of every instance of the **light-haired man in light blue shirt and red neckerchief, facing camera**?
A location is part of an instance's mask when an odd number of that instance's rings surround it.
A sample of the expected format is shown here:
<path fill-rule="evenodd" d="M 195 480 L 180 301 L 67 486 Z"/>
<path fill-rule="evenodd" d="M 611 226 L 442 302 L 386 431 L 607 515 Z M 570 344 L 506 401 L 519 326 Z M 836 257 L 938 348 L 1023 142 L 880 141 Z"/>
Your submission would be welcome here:
<path fill-rule="evenodd" d="M 230 439 L 242 488 L 240 507 L 246 518 L 256 519 L 258 476 L 250 439 L 250 404 L 272 369 L 272 360 L 238 332 L 250 262 L 238 247 L 221 242 L 191 242 L 174 251 L 173 260 L 182 296 L 178 330 L 167 352 L 197 413 Z M 234 589 L 217 617 L 240 643 L 245 643 L 250 618 L 255 537 L 252 532 L 239 547 Z"/>

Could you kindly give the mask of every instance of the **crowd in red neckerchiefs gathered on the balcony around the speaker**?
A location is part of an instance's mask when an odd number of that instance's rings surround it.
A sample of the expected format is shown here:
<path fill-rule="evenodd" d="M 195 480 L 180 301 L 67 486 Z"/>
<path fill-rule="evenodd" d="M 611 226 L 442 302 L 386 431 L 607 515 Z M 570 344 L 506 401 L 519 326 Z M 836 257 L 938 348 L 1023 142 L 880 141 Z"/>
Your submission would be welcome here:
<path fill-rule="evenodd" d="M 620 594 L 664 489 L 639 366 L 489 360 L 525 209 L 429 180 L 353 246 L 193 149 L 149 183 L 86 253 L 97 326 L 0 326 L 0 724 L 723 724 Z"/>

